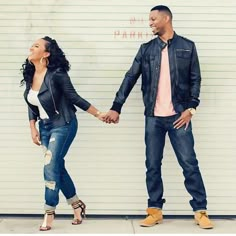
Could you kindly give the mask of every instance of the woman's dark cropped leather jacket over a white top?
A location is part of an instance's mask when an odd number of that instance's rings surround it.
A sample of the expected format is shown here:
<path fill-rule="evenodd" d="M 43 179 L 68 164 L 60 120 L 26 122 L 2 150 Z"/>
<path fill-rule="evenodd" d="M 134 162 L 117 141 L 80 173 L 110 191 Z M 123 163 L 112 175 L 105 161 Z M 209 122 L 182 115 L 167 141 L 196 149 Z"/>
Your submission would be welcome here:
<path fill-rule="evenodd" d="M 40 119 L 38 107 L 30 104 L 27 99 L 30 88 L 31 84 L 26 84 L 24 98 L 28 104 L 29 120 L 37 121 Z M 56 126 L 69 123 L 75 117 L 74 105 L 84 111 L 90 106 L 89 102 L 77 94 L 70 77 L 61 69 L 47 71 L 39 90 L 38 99 L 49 119 Z"/>

